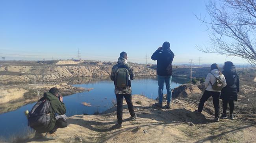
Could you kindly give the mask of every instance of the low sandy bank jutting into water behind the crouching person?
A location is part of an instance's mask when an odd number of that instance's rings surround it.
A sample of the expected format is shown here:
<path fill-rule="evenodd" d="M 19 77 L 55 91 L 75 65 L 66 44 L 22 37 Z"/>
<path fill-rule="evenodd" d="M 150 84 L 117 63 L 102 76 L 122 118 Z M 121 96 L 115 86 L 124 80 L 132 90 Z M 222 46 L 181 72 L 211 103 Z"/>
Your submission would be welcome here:
<path fill-rule="evenodd" d="M 82 87 L 74 87 L 67 83 L 0 86 L 0 114 L 16 110 L 23 105 L 37 101 L 39 98 L 43 97 L 44 92 L 49 91 L 52 87 L 58 88 L 63 96 L 91 90 Z"/>

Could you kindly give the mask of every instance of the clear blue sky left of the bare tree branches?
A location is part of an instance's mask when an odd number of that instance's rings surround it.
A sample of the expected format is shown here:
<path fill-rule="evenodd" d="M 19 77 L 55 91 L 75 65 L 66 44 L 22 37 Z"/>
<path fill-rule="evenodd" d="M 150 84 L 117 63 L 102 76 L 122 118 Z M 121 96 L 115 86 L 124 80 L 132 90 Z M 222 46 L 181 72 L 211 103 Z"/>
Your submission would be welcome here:
<path fill-rule="evenodd" d="M 206 26 L 194 14 L 206 15 L 204 0 L 1 0 L 0 56 L 6 60 L 51 60 L 77 57 L 116 61 L 126 51 L 131 62 L 148 63 L 165 41 L 174 63 L 223 63 L 237 57 L 204 54 Z"/>

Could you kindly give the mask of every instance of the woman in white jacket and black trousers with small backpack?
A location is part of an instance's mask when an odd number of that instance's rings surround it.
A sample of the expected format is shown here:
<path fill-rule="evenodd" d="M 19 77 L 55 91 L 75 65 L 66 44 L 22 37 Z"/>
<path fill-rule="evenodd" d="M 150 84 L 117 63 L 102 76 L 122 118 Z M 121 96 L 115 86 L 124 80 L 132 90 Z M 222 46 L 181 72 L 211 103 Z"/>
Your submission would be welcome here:
<path fill-rule="evenodd" d="M 219 70 L 217 63 L 213 63 L 211 65 L 211 71 L 206 76 L 204 86 L 206 87 L 206 90 L 200 99 L 198 110 L 196 110 L 196 112 L 201 114 L 204 108 L 204 103 L 212 96 L 215 110 L 215 121 L 219 121 L 219 98 L 221 95 L 221 89 L 226 86 L 226 80 Z"/>

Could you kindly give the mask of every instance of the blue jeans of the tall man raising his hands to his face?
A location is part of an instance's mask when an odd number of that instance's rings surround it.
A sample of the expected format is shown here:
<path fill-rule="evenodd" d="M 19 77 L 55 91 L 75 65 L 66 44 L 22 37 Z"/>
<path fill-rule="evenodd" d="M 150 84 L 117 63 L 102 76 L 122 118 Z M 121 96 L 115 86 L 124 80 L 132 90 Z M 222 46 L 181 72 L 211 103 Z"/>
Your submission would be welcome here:
<path fill-rule="evenodd" d="M 167 102 L 171 102 L 172 98 L 172 88 L 171 88 L 171 81 L 172 76 L 157 76 L 158 78 L 158 98 L 159 102 L 163 102 L 163 83 L 165 82 L 166 89 L 167 89 Z"/>

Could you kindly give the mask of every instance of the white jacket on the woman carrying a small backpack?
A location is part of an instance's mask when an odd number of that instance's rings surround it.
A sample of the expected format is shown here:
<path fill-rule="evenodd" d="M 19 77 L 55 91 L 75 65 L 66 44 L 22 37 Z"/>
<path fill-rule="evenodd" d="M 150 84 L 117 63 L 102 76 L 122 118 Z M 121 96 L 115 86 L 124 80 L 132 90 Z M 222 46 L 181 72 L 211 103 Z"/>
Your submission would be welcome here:
<path fill-rule="evenodd" d="M 221 81 L 223 81 L 223 87 L 226 86 L 226 80 L 224 75 L 220 74 L 218 69 L 213 69 L 210 71 L 210 73 L 208 73 L 204 81 L 204 86 L 206 87 L 206 91 L 221 92 L 221 91 L 215 91 L 211 86 L 211 84 L 213 85 L 216 82 L 216 78 L 213 75 L 218 79 L 221 78 Z"/>

